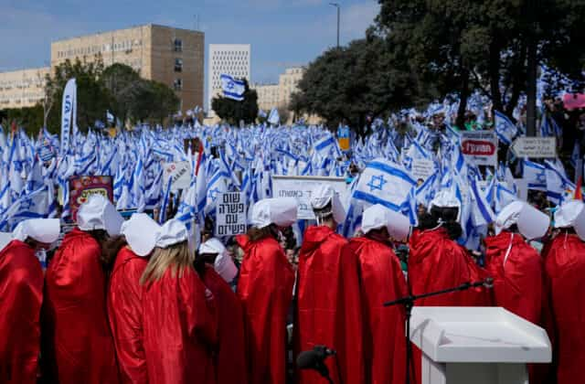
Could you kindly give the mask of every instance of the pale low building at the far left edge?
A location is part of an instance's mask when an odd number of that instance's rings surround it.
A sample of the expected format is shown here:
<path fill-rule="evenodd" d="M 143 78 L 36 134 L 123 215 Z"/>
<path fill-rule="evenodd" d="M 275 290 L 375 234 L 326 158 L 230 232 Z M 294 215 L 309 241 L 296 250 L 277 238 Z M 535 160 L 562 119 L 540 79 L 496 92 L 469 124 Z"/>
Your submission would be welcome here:
<path fill-rule="evenodd" d="M 45 99 L 45 82 L 50 68 L 0 72 L 0 110 L 32 107 Z"/>

